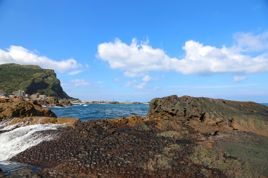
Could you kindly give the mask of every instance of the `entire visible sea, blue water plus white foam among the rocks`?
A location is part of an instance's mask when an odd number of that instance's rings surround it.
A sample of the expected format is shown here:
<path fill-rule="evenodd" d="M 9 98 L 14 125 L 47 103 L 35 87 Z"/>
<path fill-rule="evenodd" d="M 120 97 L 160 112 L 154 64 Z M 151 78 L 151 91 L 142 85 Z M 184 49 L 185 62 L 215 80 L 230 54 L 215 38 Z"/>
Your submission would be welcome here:
<path fill-rule="evenodd" d="M 268 103 L 261 104 L 268 106 Z M 78 103 L 64 108 L 49 108 L 58 117 L 74 117 L 79 118 L 81 121 L 86 121 L 89 119 L 116 119 L 132 115 L 145 117 L 149 110 L 149 104 Z M 34 171 L 43 169 L 42 167 L 10 162 L 8 159 L 44 140 L 53 139 L 54 135 L 47 135 L 43 137 L 39 135 L 39 131 L 56 130 L 57 126 L 38 124 L 14 129 L 7 125 L 8 123 L 0 122 L 0 168 L 3 173 L 10 175 L 25 166 L 29 166 Z"/>

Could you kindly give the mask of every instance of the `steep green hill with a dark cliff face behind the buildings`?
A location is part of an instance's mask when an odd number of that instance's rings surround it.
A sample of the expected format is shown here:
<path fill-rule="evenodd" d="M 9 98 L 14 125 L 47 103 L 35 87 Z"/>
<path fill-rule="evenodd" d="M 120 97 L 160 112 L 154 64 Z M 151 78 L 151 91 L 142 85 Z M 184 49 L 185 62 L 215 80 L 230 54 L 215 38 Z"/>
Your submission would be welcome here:
<path fill-rule="evenodd" d="M 0 64 L 0 89 L 5 92 L 21 89 L 27 94 L 70 98 L 63 91 L 54 70 L 42 69 L 38 65 Z"/>

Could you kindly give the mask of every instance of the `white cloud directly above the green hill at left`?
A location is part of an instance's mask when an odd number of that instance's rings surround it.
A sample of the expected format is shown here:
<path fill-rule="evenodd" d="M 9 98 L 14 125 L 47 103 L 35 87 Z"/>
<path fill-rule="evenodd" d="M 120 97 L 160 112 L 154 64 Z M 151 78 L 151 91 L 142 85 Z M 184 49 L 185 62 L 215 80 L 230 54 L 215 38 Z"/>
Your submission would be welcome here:
<path fill-rule="evenodd" d="M 55 61 L 46 56 L 38 55 L 37 51 L 30 51 L 14 45 L 10 45 L 7 51 L 0 49 L 0 64 L 4 63 L 39 65 L 42 68 L 54 69 L 61 73 L 81 67 L 73 58 Z"/>

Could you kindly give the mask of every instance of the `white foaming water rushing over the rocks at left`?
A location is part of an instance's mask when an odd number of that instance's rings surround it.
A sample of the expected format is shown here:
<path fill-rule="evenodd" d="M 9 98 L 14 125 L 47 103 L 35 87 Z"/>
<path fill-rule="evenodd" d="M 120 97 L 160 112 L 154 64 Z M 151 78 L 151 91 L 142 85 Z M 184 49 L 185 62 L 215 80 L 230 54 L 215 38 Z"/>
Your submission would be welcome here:
<path fill-rule="evenodd" d="M 57 130 L 57 125 L 37 124 L 24 126 L 0 134 L 0 161 L 5 161 L 16 154 L 32 147 L 44 140 L 53 139 L 53 135 L 43 135 L 38 131 Z"/>

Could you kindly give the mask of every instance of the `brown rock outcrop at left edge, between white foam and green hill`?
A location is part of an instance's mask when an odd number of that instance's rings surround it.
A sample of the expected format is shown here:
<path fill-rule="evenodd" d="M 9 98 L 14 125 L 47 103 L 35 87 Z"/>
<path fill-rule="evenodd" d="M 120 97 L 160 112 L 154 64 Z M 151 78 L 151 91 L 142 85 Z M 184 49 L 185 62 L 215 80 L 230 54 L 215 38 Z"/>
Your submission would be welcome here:
<path fill-rule="evenodd" d="M 57 117 L 49 108 L 43 108 L 36 101 L 23 99 L 0 99 L 0 121 L 12 117 L 47 116 Z"/>

